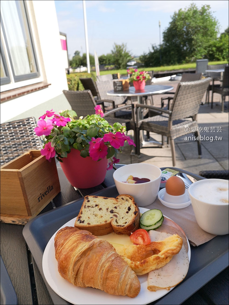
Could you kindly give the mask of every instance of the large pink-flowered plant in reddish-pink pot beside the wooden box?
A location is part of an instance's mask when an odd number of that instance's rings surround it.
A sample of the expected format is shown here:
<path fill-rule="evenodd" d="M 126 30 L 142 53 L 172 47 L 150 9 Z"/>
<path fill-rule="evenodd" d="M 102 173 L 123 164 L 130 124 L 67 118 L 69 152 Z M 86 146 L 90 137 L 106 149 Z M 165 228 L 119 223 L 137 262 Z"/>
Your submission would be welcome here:
<path fill-rule="evenodd" d="M 135 146 L 124 134 L 126 127 L 120 123 L 111 126 L 103 118 L 100 106 L 96 106 L 95 110 L 95 114 L 79 119 L 76 119 L 77 114 L 73 110 L 59 114 L 46 111 L 39 118 L 38 127 L 34 128 L 36 135 L 42 136 L 44 141 L 41 155 L 49 161 L 56 156 L 66 177 L 77 188 L 102 183 L 106 170 L 119 162 L 116 157 L 124 143 Z"/>

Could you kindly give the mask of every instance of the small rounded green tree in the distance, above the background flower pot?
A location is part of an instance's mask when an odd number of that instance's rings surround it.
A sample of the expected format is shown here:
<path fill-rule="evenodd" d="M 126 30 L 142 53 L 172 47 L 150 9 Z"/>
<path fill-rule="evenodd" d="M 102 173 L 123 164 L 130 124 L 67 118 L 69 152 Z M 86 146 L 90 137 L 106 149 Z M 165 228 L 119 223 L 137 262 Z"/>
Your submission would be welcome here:
<path fill-rule="evenodd" d="M 127 51 L 127 45 L 121 44 L 117 45 L 116 43 L 111 50 L 113 56 L 113 64 L 117 69 L 126 69 L 128 61 L 132 58 L 129 51 Z"/>

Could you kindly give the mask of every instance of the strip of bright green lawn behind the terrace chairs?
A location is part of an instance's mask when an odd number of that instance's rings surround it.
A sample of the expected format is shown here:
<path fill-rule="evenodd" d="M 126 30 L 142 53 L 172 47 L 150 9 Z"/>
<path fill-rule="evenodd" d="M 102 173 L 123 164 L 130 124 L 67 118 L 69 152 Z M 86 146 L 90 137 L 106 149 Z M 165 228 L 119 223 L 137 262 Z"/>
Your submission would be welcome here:
<path fill-rule="evenodd" d="M 214 61 L 214 62 L 209 62 L 209 65 L 217 65 L 217 64 L 223 64 L 227 63 L 227 61 Z M 174 66 L 161 66 L 161 67 L 148 67 L 148 68 L 139 68 L 139 71 L 172 71 L 172 70 L 187 70 L 187 69 L 195 69 L 196 63 L 187 63 L 184 65 L 174 65 Z M 120 73 L 121 74 L 127 74 L 127 70 L 106 70 L 106 71 L 100 71 L 100 75 L 104 74 L 116 74 Z"/>

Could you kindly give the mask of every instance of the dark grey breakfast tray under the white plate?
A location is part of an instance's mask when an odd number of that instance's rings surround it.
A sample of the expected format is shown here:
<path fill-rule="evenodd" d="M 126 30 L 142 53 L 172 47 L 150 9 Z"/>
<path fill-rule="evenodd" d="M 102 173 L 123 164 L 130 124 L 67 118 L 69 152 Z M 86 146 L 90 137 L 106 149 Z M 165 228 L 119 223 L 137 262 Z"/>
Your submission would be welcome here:
<path fill-rule="evenodd" d="M 197 180 L 202 178 L 186 171 L 183 172 L 192 175 Z M 100 190 L 93 195 L 116 197 L 119 194 L 114 185 Z M 34 257 L 54 304 L 70 303 L 58 296 L 45 280 L 42 270 L 43 253 L 52 235 L 63 224 L 77 216 L 83 200 L 83 198 L 78 199 L 66 204 L 65 206 L 41 214 L 27 223 L 23 229 L 23 236 Z M 191 261 L 186 278 L 168 294 L 150 304 L 182 304 L 188 299 L 188 297 L 198 291 L 203 285 L 223 271 L 227 266 L 228 235 L 216 236 L 209 242 L 198 247 L 191 246 Z M 134 299 L 133 304 L 135 304 Z"/>

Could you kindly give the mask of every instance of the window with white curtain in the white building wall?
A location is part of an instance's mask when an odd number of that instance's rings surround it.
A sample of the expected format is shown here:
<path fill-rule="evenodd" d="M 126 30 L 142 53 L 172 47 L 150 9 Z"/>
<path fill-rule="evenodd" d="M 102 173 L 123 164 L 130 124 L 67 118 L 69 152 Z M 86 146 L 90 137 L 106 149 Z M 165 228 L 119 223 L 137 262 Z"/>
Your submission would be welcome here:
<path fill-rule="evenodd" d="M 1 85 L 40 76 L 25 1 L 1 1 Z"/>

